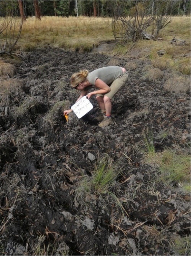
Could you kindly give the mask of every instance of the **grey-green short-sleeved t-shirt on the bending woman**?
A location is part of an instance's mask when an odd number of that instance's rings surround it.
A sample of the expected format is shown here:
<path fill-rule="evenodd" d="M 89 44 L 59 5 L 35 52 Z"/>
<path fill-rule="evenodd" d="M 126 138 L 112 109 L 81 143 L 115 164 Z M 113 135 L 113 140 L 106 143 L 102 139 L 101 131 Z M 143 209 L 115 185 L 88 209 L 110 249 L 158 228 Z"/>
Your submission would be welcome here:
<path fill-rule="evenodd" d="M 98 68 L 90 72 L 87 75 L 87 80 L 92 84 L 92 86 L 95 86 L 95 81 L 97 78 L 99 78 L 108 86 L 110 86 L 112 82 L 120 76 L 123 76 L 123 70 L 121 67 L 108 66 L 104 68 Z"/>

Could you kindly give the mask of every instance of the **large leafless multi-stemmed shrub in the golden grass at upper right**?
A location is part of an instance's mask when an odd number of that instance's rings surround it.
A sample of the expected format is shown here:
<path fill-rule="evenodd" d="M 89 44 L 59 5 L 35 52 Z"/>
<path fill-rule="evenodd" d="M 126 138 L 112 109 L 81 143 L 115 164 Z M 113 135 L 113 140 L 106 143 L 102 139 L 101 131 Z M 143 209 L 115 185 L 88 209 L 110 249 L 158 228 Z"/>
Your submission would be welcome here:
<path fill-rule="evenodd" d="M 157 1 L 155 1 L 157 2 Z M 128 40 L 136 42 L 140 39 L 157 40 L 159 31 L 171 22 L 166 15 L 168 1 L 158 1 L 154 10 L 150 1 L 121 1 L 113 11 L 112 30 L 115 40 L 124 45 Z"/>

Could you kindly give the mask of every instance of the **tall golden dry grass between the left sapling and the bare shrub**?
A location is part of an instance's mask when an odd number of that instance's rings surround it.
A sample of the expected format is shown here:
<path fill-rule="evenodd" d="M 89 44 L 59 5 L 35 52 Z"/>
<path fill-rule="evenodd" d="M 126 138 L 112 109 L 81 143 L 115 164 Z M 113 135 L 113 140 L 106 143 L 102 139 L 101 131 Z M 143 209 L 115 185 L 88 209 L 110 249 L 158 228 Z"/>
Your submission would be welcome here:
<path fill-rule="evenodd" d="M 100 41 L 112 40 L 111 18 L 42 17 L 28 18 L 23 24 L 22 41 L 50 43 L 71 50 L 91 51 Z M 86 49 L 85 49 L 86 48 Z M 85 49 L 85 50 L 84 50 Z"/>

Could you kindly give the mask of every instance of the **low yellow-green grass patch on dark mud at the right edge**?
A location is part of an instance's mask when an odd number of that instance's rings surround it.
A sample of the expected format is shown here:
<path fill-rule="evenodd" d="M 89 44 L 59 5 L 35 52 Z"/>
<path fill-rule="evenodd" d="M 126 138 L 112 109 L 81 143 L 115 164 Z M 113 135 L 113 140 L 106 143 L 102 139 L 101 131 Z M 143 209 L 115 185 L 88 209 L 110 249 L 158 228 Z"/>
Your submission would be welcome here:
<path fill-rule="evenodd" d="M 168 133 L 164 131 L 159 134 L 158 139 L 162 142 L 167 136 Z M 190 155 L 171 149 L 155 152 L 152 130 L 147 129 L 146 134 L 143 135 L 143 141 L 145 162 L 159 167 L 158 181 L 163 181 L 167 185 L 179 184 L 183 192 L 190 192 Z"/>

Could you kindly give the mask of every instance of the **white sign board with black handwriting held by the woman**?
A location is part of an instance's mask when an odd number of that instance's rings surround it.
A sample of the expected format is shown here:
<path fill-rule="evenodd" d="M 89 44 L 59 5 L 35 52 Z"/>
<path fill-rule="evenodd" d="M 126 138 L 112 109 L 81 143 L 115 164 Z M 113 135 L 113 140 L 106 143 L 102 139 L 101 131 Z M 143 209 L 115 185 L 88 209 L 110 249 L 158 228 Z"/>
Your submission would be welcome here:
<path fill-rule="evenodd" d="M 78 118 L 83 117 L 87 112 L 89 112 L 93 108 L 93 105 L 86 98 L 86 96 L 82 97 L 78 102 L 76 102 L 71 109 L 74 111 Z"/>

